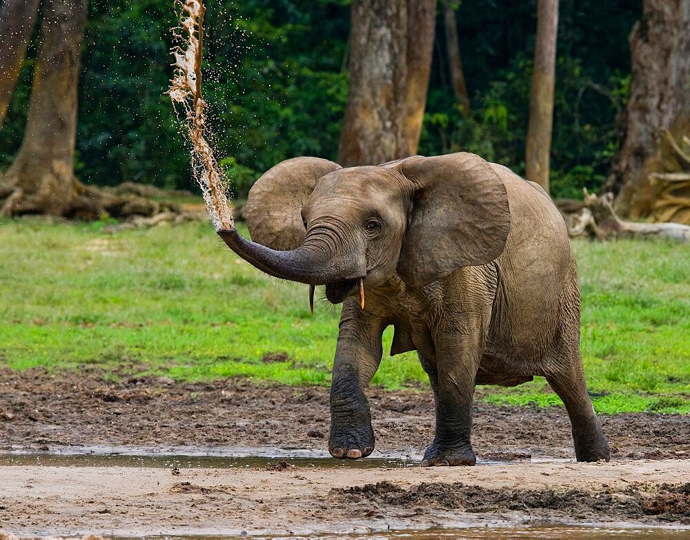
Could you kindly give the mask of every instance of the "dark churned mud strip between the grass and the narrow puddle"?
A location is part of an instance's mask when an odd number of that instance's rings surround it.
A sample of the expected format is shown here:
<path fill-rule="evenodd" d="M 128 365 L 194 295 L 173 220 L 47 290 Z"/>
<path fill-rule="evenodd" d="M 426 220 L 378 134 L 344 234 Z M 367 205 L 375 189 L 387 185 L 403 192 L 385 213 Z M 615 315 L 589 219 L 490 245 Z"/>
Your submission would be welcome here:
<path fill-rule="evenodd" d="M 261 386 L 244 380 L 107 383 L 97 369 L 50 374 L 0 370 L 0 450 L 139 447 L 213 453 L 224 447 L 326 452 L 324 387 Z M 419 456 L 433 438 L 431 390 L 368 391 L 374 456 Z M 690 459 L 690 415 L 602 416 L 613 459 Z M 561 407 L 475 405 L 473 445 L 484 461 L 573 459 Z M 319 455 L 315 454 L 315 455 Z"/>

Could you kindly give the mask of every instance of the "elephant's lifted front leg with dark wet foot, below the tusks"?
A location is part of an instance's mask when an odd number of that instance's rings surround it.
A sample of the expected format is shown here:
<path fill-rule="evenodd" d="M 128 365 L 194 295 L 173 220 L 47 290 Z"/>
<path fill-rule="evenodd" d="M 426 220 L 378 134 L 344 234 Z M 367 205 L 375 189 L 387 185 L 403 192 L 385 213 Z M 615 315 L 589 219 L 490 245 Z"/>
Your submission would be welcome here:
<path fill-rule="evenodd" d="M 331 437 L 328 451 L 337 459 L 358 459 L 374 450 L 371 413 L 364 388 L 381 362 L 383 325 L 352 300 L 346 300 L 331 383 Z"/>

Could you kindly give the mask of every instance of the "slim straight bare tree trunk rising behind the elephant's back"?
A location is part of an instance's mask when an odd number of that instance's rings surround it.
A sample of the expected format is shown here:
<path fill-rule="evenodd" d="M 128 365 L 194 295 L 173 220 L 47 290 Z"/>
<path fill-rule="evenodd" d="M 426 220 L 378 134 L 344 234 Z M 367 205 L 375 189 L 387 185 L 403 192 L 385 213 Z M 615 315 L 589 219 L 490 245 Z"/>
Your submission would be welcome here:
<path fill-rule="evenodd" d="M 549 193 L 549 153 L 553 126 L 558 0 L 538 0 L 534 73 L 525 148 L 525 176 Z"/>

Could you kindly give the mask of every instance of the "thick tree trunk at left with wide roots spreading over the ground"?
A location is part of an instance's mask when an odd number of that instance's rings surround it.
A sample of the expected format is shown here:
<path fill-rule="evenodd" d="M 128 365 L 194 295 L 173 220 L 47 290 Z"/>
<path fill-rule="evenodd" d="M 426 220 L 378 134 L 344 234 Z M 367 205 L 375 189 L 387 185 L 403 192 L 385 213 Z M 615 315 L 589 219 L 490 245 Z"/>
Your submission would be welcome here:
<path fill-rule="evenodd" d="M 161 193 L 152 193 L 150 187 L 123 184 L 98 189 L 75 178 L 77 86 L 86 3 L 43 0 L 29 115 L 19 153 L 5 182 L 0 182 L 0 217 L 46 213 L 92 220 L 109 214 L 130 218 L 129 226 L 195 218 L 195 211 L 161 200 Z"/>

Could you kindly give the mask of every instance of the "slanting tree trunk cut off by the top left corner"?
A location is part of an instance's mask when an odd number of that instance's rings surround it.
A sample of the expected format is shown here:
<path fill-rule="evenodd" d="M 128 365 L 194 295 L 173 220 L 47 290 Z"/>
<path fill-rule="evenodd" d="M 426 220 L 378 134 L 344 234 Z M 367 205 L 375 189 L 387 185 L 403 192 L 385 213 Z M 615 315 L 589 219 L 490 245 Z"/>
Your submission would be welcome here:
<path fill-rule="evenodd" d="M 0 129 L 26 58 L 39 0 L 5 0 L 0 8 Z"/>

